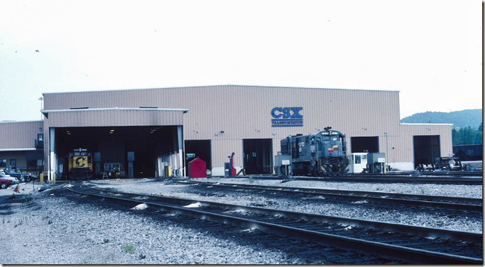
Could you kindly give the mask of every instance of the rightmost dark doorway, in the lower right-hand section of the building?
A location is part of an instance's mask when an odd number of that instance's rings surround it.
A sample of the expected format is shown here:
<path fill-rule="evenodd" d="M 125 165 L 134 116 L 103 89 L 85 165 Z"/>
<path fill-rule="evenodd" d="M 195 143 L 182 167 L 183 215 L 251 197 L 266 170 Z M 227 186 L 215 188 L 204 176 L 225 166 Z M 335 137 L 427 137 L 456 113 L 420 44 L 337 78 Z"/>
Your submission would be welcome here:
<path fill-rule="evenodd" d="M 441 156 L 440 136 L 413 136 L 414 167 L 435 163 Z"/>

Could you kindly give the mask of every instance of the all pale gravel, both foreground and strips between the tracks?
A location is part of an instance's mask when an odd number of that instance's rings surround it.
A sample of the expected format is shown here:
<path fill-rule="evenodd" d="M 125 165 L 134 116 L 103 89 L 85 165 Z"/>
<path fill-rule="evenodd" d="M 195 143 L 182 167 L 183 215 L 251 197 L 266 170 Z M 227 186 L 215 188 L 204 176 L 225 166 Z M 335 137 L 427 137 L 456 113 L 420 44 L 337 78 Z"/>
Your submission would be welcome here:
<path fill-rule="evenodd" d="M 207 181 L 202 179 L 200 181 Z M 481 197 L 481 186 L 440 184 L 367 184 L 278 180 L 209 179 L 211 182 L 248 183 L 274 186 L 317 187 L 360 191 L 389 191 L 393 193 L 422 193 L 421 189 L 440 193 L 433 195 L 460 195 Z M 319 213 L 364 220 L 448 228 L 482 232 L 482 218 L 443 216 L 442 213 L 378 209 L 369 204 L 332 203 L 315 197 L 285 199 L 251 191 L 224 191 L 218 193 L 204 186 L 173 184 L 157 179 L 96 180 L 85 182 L 90 186 L 110 188 L 130 193 L 167 195 L 194 200 L 208 200 L 230 204 L 264 206 L 267 208 Z M 214 233 L 210 229 L 194 227 L 174 220 L 175 215 L 145 211 L 130 211 L 127 207 L 112 207 L 111 202 L 90 197 L 66 195 L 63 184 L 56 189 L 25 194 L 16 193 L 14 200 L 6 200 L 12 189 L 2 191 L 0 214 L 3 246 L 1 264 L 342 264 L 367 263 L 362 256 L 322 248 L 318 256 L 303 256 L 294 251 L 268 246 L 249 237 L 260 235 L 236 229 L 236 234 Z M 30 184 L 32 186 L 32 184 Z M 348 186 L 348 187 L 346 187 Z M 479 190 L 477 189 L 479 188 Z M 21 189 L 24 187 L 21 186 Z M 379 190 L 378 190 L 379 189 Z M 466 193 L 466 192 L 467 193 Z M 204 193 L 207 194 L 204 195 Z M 25 195 L 27 195 L 25 197 Z M 25 197 L 25 198 L 23 198 Z M 155 213 L 154 213 L 155 214 Z M 166 216 L 166 217 L 165 217 Z M 201 224 L 204 224 L 201 222 Z M 270 242 L 271 243 L 271 242 Z M 272 243 L 271 243 L 272 244 Z M 347 255 L 347 256 L 345 256 Z M 349 256 L 351 255 L 351 256 Z M 339 258 L 340 257 L 340 258 Z M 353 257 L 349 260 L 349 257 Z M 373 262 L 373 261 L 369 261 Z"/>

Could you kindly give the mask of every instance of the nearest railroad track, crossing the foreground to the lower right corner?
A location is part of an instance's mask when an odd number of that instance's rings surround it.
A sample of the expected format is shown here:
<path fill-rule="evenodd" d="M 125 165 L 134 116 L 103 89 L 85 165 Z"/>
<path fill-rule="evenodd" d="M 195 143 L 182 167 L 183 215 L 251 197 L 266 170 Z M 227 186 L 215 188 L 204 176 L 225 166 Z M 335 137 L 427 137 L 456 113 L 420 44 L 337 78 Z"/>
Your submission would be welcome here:
<path fill-rule="evenodd" d="M 483 263 L 481 233 L 388 224 L 178 197 L 123 193 L 90 187 L 66 189 L 125 204 L 145 203 L 152 209 L 244 228 L 257 228 L 280 236 L 306 239 L 409 263 Z M 191 206 L 193 207 L 189 208 Z"/>

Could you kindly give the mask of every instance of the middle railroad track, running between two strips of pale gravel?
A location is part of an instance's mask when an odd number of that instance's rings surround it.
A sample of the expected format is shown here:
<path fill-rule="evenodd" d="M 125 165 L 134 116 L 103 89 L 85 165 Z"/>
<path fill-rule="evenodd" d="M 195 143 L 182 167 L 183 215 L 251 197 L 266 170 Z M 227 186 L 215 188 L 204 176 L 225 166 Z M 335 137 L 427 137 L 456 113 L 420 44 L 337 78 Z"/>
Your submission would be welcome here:
<path fill-rule="evenodd" d="M 467 197 L 446 197 L 434 195 L 411 195 L 400 193 L 382 193 L 382 192 L 367 192 L 367 191 L 347 191 L 347 190 L 333 190 L 333 189 L 312 189 L 303 187 L 289 187 L 289 186 L 262 186 L 252 184 L 216 184 L 214 182 L 192 182 L 179 181 L 184 184 L 203 184 L 207 186 L 219 186 L 225 188 L 240 188 L 249 190 L 264 190 L 272 192 L 285 192 L 289 194 L 308 194 L 308 195 L 322 195 L 328 197 L 336 197 L 348 200 L 367 200 L 369 202 L 404 204 L 413 206 L 429 206 L 440 209 L 455 209 L 463 211 L 482 211 L 483 200 L 481 198 L 467 198 Z M 460 202 L 465 202 L 460 203 Z"/>

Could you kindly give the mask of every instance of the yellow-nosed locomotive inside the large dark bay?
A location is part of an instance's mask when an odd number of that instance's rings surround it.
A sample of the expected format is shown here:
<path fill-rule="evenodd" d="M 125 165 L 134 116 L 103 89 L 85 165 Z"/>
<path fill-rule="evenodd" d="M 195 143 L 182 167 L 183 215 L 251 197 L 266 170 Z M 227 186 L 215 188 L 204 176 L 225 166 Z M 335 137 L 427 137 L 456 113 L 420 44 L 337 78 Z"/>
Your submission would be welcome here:
<path fill-rule="evenodd" d="M 92 178 L 92 153 L 87 149 L 74 149 L 69 153 L 68 179 Z"/>

